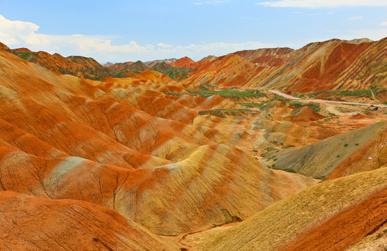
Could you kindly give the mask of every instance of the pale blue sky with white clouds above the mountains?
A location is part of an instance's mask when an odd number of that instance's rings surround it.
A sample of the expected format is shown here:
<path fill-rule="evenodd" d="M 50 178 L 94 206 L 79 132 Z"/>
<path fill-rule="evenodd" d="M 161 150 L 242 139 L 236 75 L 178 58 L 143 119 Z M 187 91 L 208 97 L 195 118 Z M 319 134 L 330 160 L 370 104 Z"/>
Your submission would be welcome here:
<path fill-rule="evenodd" d="M 387 37 L 387 0 L 0 0 L 0 42 L 100 63 Z"/>

